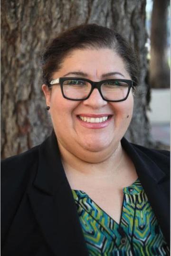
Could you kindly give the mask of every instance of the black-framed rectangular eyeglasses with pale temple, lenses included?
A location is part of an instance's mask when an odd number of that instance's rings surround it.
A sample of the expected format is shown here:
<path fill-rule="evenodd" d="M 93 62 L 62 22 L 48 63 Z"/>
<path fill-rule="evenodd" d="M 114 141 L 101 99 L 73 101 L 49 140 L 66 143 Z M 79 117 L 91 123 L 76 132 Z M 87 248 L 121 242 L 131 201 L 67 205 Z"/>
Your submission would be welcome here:
<path fill-rule="evenodd" d="M 49 87 L 58 84 L 60 84 L 62 95 L 66 99 L 88 99 L 93 90 L 97 88 L 104 100 L 112 102 L 126 100 L 131 87 L 134 88 L 135 86 L 132 80 L 126 79 L 107 79 L 93 82 L 85 78 L 60 77 L 52 80 L 49 83 Z"/>

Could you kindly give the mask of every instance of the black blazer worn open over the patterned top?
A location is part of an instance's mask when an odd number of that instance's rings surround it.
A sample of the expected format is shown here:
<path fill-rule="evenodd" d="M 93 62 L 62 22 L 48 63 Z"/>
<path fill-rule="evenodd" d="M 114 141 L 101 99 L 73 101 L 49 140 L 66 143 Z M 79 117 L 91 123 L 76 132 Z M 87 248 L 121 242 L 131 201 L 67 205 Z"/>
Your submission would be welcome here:
<path fill-rule="evenodd" d="M 170 242 L 169 152 L 122 139 Z M 73 194 L 54 132 L 41 145 L 1 164 L 3 256 L 87 256 Z"/>

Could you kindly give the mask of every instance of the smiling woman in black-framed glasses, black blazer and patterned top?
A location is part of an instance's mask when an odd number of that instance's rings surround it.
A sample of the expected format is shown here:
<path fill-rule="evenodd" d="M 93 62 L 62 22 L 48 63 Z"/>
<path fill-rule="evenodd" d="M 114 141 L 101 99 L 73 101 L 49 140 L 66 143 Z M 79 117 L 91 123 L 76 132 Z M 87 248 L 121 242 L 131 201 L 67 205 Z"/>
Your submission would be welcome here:
<path fill-rule="evenodd" d="M 3 255 L 169 255 L 169 153 L 123 138 L 137 63 L 114 31 L 60 34 L 43 56 L 54 131 L 3 161 Z"/>

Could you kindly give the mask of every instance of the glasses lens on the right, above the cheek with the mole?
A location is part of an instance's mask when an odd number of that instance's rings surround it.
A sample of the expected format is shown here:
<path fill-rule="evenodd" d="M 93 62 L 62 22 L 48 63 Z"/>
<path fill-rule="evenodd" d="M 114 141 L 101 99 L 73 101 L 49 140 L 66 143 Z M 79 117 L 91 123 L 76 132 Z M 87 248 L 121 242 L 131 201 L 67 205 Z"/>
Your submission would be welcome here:
<path fill-rule="evenodd" d="M 107 100 L 122 100 L 127 96 L 129 85 L 125 82 L 109 80 L 101 85 L 101 92 Z"/>

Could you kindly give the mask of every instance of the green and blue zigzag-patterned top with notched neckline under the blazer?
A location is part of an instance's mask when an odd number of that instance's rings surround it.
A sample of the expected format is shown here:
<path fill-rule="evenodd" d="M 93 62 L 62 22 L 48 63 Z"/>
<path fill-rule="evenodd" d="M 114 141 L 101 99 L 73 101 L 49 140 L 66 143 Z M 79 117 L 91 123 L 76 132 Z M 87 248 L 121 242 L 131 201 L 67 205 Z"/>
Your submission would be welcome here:
<path fill-rule="evenodd" d="M 123 188 L 120 224 L 85 192 L 72 192 L 90 256 L 170 255 L 139 179 Z"/>

